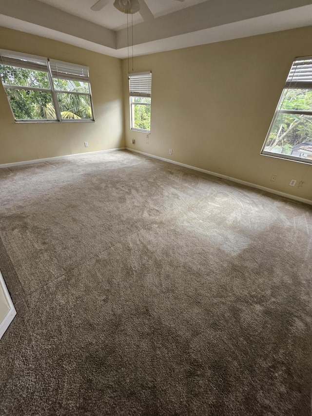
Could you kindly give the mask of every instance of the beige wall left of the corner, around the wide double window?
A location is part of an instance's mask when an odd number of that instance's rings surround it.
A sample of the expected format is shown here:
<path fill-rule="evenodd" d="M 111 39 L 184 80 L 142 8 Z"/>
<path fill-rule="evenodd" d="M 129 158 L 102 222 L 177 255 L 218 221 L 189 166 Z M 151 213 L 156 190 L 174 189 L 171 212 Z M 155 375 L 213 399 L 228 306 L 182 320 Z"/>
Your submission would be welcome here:
<path fill-rule="evenodd" d="M 120 59 L 3 27 L 0 48 L 89 66 L 96 119 L 15 123 L 0 85 L 0 164 L 124 146 Z"/>

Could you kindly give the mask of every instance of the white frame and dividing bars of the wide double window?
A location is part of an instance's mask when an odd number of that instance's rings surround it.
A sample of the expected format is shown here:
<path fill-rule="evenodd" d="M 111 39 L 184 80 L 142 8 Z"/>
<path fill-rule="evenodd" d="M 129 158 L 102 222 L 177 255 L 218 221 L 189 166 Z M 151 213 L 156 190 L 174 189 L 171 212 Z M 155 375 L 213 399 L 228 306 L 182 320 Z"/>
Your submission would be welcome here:
<path fill-rule="evenodd" d="M 12 66 L 14 67 L 14 64 L 6 64 L 3 62 L 3 58 L 7 58 L 7 59 L 20 59 L 20 60 L 24 60 L 25 61 L 25 66 L 18 66 L 22 69 L 33 69 L 35 71 L 39 71 L 39 69 L 36 68 L 31 68 L 31 66 L 33 65 L 34 62 L 36 61 L 40 61 L 40 62 L 44 62 L 45 65 L 44 67 L 46 67 L 46 71 L 47 72 L 47 78 L 49 81 L 49 85 L 50 88 L 40 88 L 40 87 L 28 87 L 28 86 L 22 86 L 22 85 L 9 85 L 9 84 L 4 84 L 2 82 L 1 79 L 1 84 L 2 87 L 5 91 L 5 95 L 8 99 L 8 103 L 14 118 L 14 121 L 16 123 L 47 123 L 47 122 L 94 122 L 94 107 L 93 107 L 93 100 L 92 100 L 92 92 L 91 92 L 91 83 L 90 83 L 90 79 L 89 79 L 89 68 L 83 65 L 78 65 L 78 64 L 73 64 L 73 63 L 69 63 L 69 62 L 63 62 L 63 61 L 54 61 L 53 59 L 51 59 L 51 61 L 53 62 L 60 62 L 62 64 L 64 64 L 65 66 L 68 67 L 72 67 L 72 68 L 83 68 L 84 71 L 87 73 L 87 77 L 85 79 L 81 79 L 83 82 L 87 82 L 88 83 L 88 93 L 83 93 L 83 92 L 73 92 L 73 91 L 62 91 L 62 90 L 56 90 L 55 86 L 54 86 L 54 82 L 53 79 L 55 77 L 53 77 L 52 74 L 52 70 L 51 70 L 51 65 L 50 65 L 50 59 L 45 58 L 45 57 L 39 57 L 36 55 L 30 55 L 30 54 L 23 54 L 20 52 L 15 52 L 15 51 L 8 51 L 5 49 L 0 49 L 0 65 L 3 66 Z M 24 91 L 41 91 L 41 92 L 48 92 L 51 94 L 52 97 L 52 103 L 54 106 L 54 110 L 56 113 L 56 118 L 55 119 L 16 119 L 15 118 L 15 114 L 13 111 L 13 108 L 11 106 L 11 102 L 10 102 L 10 97 L 7 94 L 7 90 L 24 90 Z M 91 118 L 85 118 L 85 119 L 64 119 L 61 116 L 61 111 L 59 108 L 59 101 L 58 101 L 58 94 L 59 93 L 63 93 L 63 94 L 75 94 L 75 95 L 84 95 L 84 96 L 89 96 L 90 97 L 90 107 L 91 107 Z"/>

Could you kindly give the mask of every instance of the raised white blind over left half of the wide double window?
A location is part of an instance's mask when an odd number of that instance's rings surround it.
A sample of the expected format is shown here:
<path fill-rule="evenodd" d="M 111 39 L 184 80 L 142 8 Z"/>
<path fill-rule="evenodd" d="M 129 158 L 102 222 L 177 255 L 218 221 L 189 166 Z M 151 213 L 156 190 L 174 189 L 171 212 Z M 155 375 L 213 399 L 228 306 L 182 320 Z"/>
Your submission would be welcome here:
<path fill-rule="evenodd" d="M 0 49 L 0 64 L 26 68 L 34 71 L 48 72 L 46 58 L 32 55 L 21 55 L 18 52 L 5 51 Z"/>

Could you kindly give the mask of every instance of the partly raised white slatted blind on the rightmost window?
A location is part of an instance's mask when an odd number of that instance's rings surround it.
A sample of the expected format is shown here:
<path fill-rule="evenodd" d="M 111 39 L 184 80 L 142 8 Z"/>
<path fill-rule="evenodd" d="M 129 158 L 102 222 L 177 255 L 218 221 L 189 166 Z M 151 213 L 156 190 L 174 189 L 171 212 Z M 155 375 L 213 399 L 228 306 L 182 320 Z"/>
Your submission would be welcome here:
<path fill-rule="evenodd" d="M 286 81 L 286 88 L 312 88 L 312 57 L 295 59 Z"/>

